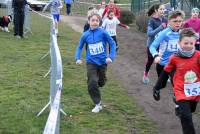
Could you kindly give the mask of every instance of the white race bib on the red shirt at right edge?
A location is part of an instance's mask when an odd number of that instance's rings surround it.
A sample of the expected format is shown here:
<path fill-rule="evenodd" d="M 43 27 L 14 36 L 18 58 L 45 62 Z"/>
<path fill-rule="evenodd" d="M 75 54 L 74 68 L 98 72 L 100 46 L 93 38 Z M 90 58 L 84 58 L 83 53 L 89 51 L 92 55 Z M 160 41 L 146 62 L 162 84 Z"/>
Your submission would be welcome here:
<path fill-rule="evenodd" d="M 184 92 L 186 97 L 200 95 L 200 82 L 192 84 L 184 84 Z"/>

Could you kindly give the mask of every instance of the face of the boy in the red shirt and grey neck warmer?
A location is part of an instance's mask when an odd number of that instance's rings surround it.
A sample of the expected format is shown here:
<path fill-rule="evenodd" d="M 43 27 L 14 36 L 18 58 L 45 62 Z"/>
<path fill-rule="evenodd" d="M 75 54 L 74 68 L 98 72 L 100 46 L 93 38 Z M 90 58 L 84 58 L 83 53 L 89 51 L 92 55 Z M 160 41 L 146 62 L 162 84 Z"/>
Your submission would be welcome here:
<path fill-rule="evenodd" d="M 195 37 L 183 37 L 181 41 L 179 41 L 179 45 L 183 51 L 190 51 L 194 48 L 195 42 Z"/>

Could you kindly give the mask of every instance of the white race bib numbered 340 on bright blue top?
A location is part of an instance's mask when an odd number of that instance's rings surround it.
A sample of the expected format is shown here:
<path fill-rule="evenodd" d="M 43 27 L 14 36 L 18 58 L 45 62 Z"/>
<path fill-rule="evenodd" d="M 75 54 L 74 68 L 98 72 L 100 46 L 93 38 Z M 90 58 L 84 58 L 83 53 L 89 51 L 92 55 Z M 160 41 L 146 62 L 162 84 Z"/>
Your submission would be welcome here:
<path fill-rule="evenodd" d="M 88 44 L 90 55 L 97 55 L 104 53 L 104 47 L 102 42 L 96 44 Z"/>

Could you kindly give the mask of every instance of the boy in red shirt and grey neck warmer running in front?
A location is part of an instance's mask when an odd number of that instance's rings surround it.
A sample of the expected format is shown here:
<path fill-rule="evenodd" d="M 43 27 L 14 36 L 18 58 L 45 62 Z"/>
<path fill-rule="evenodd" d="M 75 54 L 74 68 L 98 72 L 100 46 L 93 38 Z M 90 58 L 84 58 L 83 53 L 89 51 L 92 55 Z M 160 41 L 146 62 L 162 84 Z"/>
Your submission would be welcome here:
<path fill-rule="evenodd" d="M 192 29 L 181 31 L 178 51 L 170 57 L 153 89 L 154 99 L 160 100 L 160 89 L 165 87 L 168 74 L 175 70 L 173 90 L 183 134 L 195 134 L 192 113 L 200 100 L 200 52 L 195 51 L 195 38 Z"/>

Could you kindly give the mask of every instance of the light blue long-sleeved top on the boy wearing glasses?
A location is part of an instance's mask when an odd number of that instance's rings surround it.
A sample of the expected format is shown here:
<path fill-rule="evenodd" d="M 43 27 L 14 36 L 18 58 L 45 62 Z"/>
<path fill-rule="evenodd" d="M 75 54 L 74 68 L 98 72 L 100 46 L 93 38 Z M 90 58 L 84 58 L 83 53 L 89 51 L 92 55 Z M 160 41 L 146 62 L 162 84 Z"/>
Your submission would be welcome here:
<path fill-rule="evenodd" d="M 153 41 L 149 50 L 152 56 L 155 57 L 155 55 L 158 55 L 157 48 L 159 47 L 159 45 L 163 43 L 163 45 L 166 46 L 164 47 L 165 50 L 162 50 L 163 53 L 161 55 L 161 60 L 159 63 L 160 65 L 165 66 L 168 63 L 170 56 L 177 52 L 178 40 L 179 32 L 174 32 L 170 26 L 168 26 L 166 29 L 158 34 L 158 37 Z"/>

